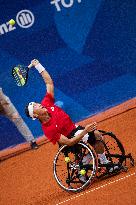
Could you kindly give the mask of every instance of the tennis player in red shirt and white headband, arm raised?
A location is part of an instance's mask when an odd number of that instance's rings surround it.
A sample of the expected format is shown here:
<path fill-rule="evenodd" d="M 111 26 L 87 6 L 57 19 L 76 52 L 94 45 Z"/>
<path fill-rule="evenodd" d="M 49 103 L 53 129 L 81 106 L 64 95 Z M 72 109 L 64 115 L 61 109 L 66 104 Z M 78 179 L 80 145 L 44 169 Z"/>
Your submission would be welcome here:
<path fill-rule="evenodd" d="M 101 133 L 97 130 L 97 123 L 92 122 L 85 127 L 73 123 L 70 116 L 55 105 L 54 83 L 48 71 L 36 59 L 32 60 L 31 64 L 42 76 L 47 92 L 41 103 L 30 102 L 26 106 L 26 115 L 32 120 L 40 121 L 45 136 L 52 144 L 73 146 L 82 140 L 94 147 L 101 164 L 109 163 L 103 144 L 97 141 L 102 139 Z M 89 157 L 86 156 L 84 160 L 88 161 Z"/>

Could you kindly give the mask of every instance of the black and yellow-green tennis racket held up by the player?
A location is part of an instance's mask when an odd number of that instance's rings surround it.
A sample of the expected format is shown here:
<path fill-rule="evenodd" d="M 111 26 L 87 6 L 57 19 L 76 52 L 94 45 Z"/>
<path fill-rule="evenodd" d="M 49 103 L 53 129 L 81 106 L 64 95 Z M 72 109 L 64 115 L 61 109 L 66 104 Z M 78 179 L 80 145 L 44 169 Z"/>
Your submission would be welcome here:
<path fill-rule="evenodd" d="M 17 65 L 12 68 L 12 76 L 17 86 L 26 85 L 28 80 L 28 72 L 32 66 L 32 64 L 29 66 Z"/>

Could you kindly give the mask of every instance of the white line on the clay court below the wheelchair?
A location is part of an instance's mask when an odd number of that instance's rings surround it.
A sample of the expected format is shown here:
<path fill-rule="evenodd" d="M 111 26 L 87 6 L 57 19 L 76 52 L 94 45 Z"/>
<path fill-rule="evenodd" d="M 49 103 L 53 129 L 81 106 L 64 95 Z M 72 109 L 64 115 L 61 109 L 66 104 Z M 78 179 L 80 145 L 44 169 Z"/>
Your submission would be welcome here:
<path fill-rule="evenodd" d="M 101 189 L 101 188 L 103 188 L 103 187 L 105 187 L 105 186 L 108 186 L 108 185 L 110 185 L 110 184 L 113 184 L 113 183 L 115 183 L 115 182 L 121 181 L 121 180 L 123 180 L 123 179 L 126 179 L 126 178 L 131 177 L 131 176 L 134 176 L 134 175 L 136 175 L 136 172 L 134 172 L 134 173 L 132 173 L 132 174 L 129 174 L 129 175 L 126 175 L 125 177 L 121 177 L 121 178 L 119 178 L 119 179 L 116 179 L 115 181 L 111 181 L 111 182 L 109 182 L 109 183 L 107 183 L 107 184 L 104 184 L 104 185 L 102 185 L 102 186 L 99 186 L 99 187 L 96 187 L 96 188 L 94 188 L 94 189 L 91 189 L 90 191 L 86 191 L 86 192 L 84 192 L 84 193 L 82 193 L 82 194 L 78 194 L 78 195 L 76 195 L 76 196 L 74 196 L 74 197 L 71 197 L 71 198 L 69 198 L 69 199 L 66 199 L 65 201 L 59 202 L 59 203 L 56 204 L 56 205 L 60 205 L 60 204 L 63 204 L 63 203 L 65 203 L 65 202 L 67 202 L 67 201 L 70 201 L 70 200 L 72 200 L 72 199 L 79 198 L 80 196 L 83 196 L 83 195 L 85 195 L 85 194 L 94 192 L 94 191 L 96 191 L 96 190 L 98 190 L 98 189 Z"/>

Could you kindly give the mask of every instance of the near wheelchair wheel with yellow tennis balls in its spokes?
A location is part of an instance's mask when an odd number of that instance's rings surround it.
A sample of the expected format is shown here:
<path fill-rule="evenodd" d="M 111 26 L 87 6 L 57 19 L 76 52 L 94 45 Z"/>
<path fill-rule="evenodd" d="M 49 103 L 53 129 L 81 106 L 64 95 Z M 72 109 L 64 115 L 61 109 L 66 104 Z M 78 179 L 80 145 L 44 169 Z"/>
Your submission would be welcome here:
<path fill-rule="evenodd" d="M 84 164 L 85 156 L 90 155 L 88 163 Z M 97 157 L 94 149 L 82 142 L 69 147 L 61 146 L 54 162 L 55 180 L 68 192 L 80 192 L 91 184 L 97 172 Z M 84 180 L 81 180 L 81 179 Z"/>

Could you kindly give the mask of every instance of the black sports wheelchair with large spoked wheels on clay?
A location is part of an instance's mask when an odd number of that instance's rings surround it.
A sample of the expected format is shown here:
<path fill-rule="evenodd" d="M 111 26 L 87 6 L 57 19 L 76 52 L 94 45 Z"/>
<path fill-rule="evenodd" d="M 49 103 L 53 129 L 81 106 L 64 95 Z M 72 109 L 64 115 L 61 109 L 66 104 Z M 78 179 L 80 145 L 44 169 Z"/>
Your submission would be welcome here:
<path fill-rule="evenodd" d="M 130 164 L 134 166 L 131 153 L 125 154 L 125 149 L 115 134 L 102 130 L 99 132 L 103 136 L 103 140 L 100 141 L 104 145 L 108 164 L 101 164 L 94 148 L 82 141 L 71 147 L 63 145 L 59 148 L 53 162 L 53 174 L 57 183 L 65 191 L 80 192 L 91 185 L 94 179 L 127 171 L 126 159 L 129 159 Z M 83 159 L 88 154 L 91 156 L 90 160 L 84 164 Z M 86 179 L 84 182 L 81 176 Z"/>

